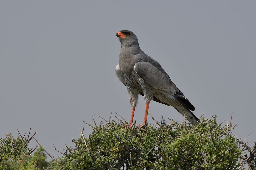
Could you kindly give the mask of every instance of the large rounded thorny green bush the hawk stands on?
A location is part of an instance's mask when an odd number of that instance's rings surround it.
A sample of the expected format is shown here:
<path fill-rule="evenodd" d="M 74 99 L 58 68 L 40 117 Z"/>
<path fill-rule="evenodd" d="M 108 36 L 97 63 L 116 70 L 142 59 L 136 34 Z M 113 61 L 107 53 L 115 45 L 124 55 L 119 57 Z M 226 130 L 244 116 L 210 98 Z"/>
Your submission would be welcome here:
<path fill-rule="evenodd" d="M 108 123 L 93 127 L 85 142 L 74 140 L 67 168 L 77 169 L 233 169 L 241 151 L 230 134 L 233 126 L 218 126 L 215 117 L 196 126 L 156 123 L 144 129 Z M 85 145 L 87 144 L 87 147 Z M 75 162 L 74 162 L 75 160 Z"/>

